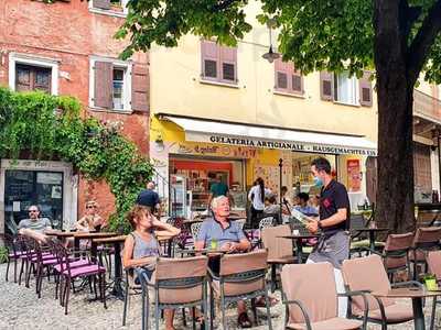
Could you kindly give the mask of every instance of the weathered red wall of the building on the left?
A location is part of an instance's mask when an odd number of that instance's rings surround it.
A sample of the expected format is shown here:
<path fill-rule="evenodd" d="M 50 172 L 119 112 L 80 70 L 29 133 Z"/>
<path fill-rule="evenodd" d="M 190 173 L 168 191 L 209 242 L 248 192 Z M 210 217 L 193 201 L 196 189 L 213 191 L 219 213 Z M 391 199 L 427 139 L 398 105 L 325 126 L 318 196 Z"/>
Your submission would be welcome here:
<path fill-rule="evenodd" d="M 72 0 L 45 4 L 31 0 L 0 1 L 0 85 L 8 86 L 11 52 L 55 59 L 58 63 L 58 95 L 78 98 L 85 116 L 104 121 L 122 121 L 123 134 L 148 155 L 149 116 L 147 112 L 121 114 L 88 109 L 89 58 L 92 55 L 117 58 L 125 42 L 112 35 L 121 18 L 93 13 L 87 1 Z M 147 54 L 136 54 L 133 62 L 148 64 Z M 78 185 L 78 217 L 87 199 L 95 199 L 107 217 L 114 211 L 114 196 L 106 183 Z"/>

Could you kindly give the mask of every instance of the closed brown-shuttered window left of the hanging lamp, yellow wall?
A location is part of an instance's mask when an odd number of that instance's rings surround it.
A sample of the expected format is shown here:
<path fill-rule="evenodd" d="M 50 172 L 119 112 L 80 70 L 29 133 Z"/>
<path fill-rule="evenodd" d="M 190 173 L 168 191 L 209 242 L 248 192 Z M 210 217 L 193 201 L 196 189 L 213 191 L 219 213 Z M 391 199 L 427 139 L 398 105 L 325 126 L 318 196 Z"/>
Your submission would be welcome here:
<path fill-rule="evenodd" d="M 201 53 L 204 80 L 237 84 L 237 48 L 202 41 Z"/>

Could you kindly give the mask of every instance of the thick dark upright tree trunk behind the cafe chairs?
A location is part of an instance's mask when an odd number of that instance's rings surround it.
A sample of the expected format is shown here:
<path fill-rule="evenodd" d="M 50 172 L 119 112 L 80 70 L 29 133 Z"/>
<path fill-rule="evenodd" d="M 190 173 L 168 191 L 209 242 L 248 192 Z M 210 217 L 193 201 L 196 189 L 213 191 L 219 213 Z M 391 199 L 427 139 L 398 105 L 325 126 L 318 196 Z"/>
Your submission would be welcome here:
<path fill-rule="evenodd" d="M 392 232 L 415 228 L 412 106 L 407 69 L 406 8 L 375 0 L 375 66 L 378 95 L 378 189 L 376 219 Z"/>

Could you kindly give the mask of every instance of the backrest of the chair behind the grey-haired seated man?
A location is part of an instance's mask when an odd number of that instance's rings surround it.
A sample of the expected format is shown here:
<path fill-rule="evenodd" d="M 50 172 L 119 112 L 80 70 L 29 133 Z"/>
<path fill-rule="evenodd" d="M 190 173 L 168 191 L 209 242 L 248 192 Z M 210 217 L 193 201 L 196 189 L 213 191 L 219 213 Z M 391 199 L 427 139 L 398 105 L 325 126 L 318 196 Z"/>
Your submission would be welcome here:
<path fill-rule="evenodd" d="M 225 296 L 238 296 L 266 288 L 266 250 L 249 253 L 225 254 L 220 258 L 220 286 Z"/>

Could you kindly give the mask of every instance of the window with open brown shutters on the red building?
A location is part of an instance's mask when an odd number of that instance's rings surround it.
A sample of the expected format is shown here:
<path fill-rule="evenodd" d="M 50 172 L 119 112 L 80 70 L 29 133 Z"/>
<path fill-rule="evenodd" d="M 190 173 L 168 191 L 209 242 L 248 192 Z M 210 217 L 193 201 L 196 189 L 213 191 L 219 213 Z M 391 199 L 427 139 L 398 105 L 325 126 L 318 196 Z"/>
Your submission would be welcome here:
<path fill-rule="evenodd" d="M 147 64 L 93 58 L 89 106 L 96 110 L 148 111 Z"/>

